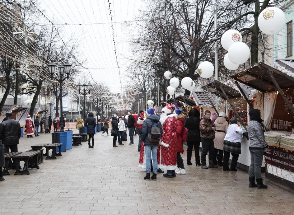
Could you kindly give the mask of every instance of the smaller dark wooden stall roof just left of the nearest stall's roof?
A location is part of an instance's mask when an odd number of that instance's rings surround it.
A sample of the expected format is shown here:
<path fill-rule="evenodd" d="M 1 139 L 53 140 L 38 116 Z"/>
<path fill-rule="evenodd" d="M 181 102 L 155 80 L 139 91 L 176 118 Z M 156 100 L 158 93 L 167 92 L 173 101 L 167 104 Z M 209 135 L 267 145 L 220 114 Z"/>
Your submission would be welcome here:
<path fill-rule="evenodd" d="M 204 86 L 202 86 L 202 88 L 205 90 L 208 90 L 212 94 L 214 94 L 216 96 L 220 96 L 224 100 L 226 100 L 226 96 L 225 96 L 225 94 L 223 94 L 221 86 L 223 87 L 223 89 L 226 92 L 226 95 L 229 97 L 229 99 L 241 97 L 241 94 L 239 91 L 236 91 L 234 88 L 227 86 L 217 80 L 214 80 L 212 82 L 209 82 L 208 84 L 205 84 Z"/>

